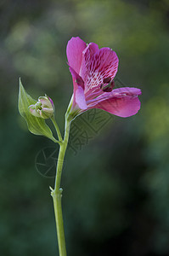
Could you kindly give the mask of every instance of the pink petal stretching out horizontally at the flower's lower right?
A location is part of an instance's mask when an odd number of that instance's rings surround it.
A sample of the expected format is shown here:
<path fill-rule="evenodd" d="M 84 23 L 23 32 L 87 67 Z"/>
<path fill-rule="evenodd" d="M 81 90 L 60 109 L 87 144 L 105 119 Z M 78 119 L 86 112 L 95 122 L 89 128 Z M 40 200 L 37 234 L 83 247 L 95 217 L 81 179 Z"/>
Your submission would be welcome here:
<path fill-rule="evenodd" d="M 138 88 L 119 88 L 111 93 L 105 92 L 95 100 L 87 102 L 87 105 L 88 108 L 101 108 L 109 113 L 125 118 L 138 113 L 141 105 L 138 100 L 138 95 L 140 94 L 141 90 Z"/>

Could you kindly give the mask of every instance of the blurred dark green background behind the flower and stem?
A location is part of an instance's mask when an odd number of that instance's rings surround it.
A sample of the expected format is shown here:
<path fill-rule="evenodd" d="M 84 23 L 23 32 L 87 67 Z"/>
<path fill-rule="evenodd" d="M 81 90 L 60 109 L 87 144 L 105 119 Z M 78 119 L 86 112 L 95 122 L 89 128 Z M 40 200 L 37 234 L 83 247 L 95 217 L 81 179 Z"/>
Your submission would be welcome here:
<path fill-rule="evenodd" d="M 116 78 L 143 95 L 136 116 L 113 117 L 76 154 L 68 148 L 68 255 L 169 255 L 169 1 L 1 0 L 0 20 L 0 254 L 59 255 L 54 177 L 36 169 L 38 152 L 54 143 L 27 131 L 18 82 L 35 99 L 53 98 L 63 132 L 72 94 L 65 48 L 79 36 L 114 49 Z"/>

